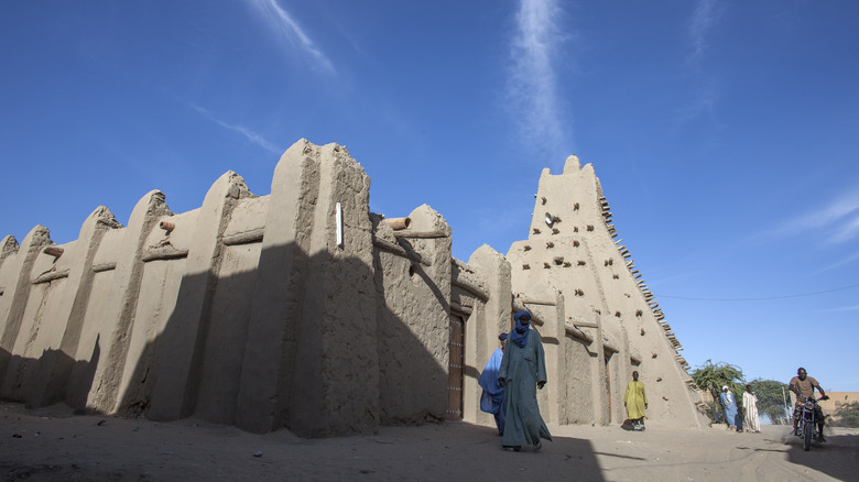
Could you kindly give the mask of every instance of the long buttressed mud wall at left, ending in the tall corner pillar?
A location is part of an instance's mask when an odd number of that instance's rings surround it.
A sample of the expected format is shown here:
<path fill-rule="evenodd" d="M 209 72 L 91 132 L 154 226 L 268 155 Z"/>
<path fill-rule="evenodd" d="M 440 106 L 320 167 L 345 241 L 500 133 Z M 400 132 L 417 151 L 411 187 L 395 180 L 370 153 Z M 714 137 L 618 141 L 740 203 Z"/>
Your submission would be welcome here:
<path fill-rule="evenodd" d="M 369 177 L 345 149 L 300 141 L 263 198 L 227 173 L 193 211 L 173 213 L 152 191 L 128 227 L 99 208 L 67 244 L 52 245 L 43 227 L 23 247 L 6 238 L 0 395 L 155 419 L 196 415 L 253 431 L 374 429 L 368 206 Z M 425 251 L 449 292 L 447 232 Z M 441 314 L 434 331 L 446 322 Z M 434 348 L 438 364 L 446 346 Z M 441 415 L 443 403 L 430 409 Z"/>

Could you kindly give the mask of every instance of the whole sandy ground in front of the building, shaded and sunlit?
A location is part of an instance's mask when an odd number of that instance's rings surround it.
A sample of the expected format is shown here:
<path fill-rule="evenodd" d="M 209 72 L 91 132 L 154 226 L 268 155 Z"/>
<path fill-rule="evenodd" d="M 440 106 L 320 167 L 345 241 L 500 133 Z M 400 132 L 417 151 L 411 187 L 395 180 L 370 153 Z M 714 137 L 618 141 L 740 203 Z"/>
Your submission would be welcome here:
<path fill-rule="evenodd" d="M 859 430 L 831 429 L 803 451 L 789 429 L 762 434 L 650 423 L 552 427 L 543 450 L 501 450 L 488 427 L 383 427 L 371 436 L 302 439 L 194 419 L 154 423 L 0 403 L 7 481 L 355 480 L 792 481 L 859 480 Z"/>

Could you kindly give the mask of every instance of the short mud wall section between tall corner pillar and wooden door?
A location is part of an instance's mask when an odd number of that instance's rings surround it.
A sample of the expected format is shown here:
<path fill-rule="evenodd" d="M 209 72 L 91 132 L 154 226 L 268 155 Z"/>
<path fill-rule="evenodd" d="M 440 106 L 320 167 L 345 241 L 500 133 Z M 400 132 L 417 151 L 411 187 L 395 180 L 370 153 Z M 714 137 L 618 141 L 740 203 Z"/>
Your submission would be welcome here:
<path fill-rule="evenodd" d="M 407 231 L 376 217 L 380 420 L 439 418 L 447 409 L 450 228 L 424 205 Z"/>

